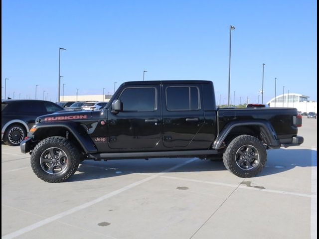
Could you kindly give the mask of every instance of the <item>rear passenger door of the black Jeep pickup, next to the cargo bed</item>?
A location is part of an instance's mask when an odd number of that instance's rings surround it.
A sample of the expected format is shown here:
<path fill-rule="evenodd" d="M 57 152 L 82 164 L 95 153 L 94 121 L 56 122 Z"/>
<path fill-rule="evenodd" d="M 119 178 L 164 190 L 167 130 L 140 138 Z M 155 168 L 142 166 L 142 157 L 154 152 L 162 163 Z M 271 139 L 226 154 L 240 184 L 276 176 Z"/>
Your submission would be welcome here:
<path fill-rule="evenodd" d="M 201 84 L 162 86 L 163 145 L 196 148 L 192 140 L 204 124 Z M 197 140 L 197 139 L 196 139 Z"/>

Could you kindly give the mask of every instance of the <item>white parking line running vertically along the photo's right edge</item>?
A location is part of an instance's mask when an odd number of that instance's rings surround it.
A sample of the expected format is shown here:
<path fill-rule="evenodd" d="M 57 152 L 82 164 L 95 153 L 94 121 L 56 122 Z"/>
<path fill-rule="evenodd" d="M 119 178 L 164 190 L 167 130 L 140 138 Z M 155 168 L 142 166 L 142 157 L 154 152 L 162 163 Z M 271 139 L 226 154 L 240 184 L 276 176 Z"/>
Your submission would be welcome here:
<path fill-rule="evenodd" d="M 312 147 L 311 153 L 311 193 L 317 196 L 317 147 Z M 310 213 L 311 239 L 317 239 L 317 199 L 311 199 Z"/>

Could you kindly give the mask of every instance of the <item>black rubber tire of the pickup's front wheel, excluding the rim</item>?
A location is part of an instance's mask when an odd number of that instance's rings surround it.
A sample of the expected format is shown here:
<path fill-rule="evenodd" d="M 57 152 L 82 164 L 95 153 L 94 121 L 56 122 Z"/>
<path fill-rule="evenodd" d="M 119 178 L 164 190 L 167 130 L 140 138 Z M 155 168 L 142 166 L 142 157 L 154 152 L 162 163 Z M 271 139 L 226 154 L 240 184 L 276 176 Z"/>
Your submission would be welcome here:
<path fill-rule="evenodd" d="M 41 167 L 41 154 L 50 147 L 62 149 L 67 155 L 66 170 L 59 175 L 49 174 Z M 79 150 L 68 139 L 59 136 L 48 137 L 40 141 L 32 150 L 31 167 L 35 175 L 45 182 L 60 183 L 66 181 L 77 170 L 81 154 Z"/>

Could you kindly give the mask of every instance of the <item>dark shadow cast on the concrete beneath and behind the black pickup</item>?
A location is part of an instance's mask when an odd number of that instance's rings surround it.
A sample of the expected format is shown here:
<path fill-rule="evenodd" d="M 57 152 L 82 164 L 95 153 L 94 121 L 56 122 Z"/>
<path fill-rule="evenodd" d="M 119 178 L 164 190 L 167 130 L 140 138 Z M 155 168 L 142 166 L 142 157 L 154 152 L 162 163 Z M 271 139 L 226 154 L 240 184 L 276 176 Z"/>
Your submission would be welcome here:
<path fill-rule="evenodd" d="M 282 173 L 296 167 L 312 166 L 311 149 L 276 149 L 267 151 L 267 163 L 263 171 L 257 176 L 266 176 Z M 144 159 L 123 159 L 108 161 L 84 160 L 80 164 L 77 172 L 68 180 L 86 181 L 92 179 L 109 178 L 128 174 L 155 174 L 171 168 L 177 164 L 183 163 L 189 158 L 154 158 Z M 316 165 L 317 166 L 317 158 Z M 212 172 L 225 171 L 222 160 L 200 160 L 196 159 L 184 166 L 169 171 L 174 172 Z"/>

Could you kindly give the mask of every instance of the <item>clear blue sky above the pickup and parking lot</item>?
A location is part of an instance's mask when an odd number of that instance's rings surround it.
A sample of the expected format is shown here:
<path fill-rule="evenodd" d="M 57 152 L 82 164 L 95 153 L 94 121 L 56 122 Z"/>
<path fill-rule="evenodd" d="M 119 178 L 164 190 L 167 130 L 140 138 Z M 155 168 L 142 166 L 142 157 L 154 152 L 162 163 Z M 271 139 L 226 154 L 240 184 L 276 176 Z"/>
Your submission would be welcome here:
<path fill-rule="evenodd" d="M 2 0 L 1 82 L 57 100 L 58 48 L 65 95 L 113 92 L 124 81 L 199 79 L 227 99 L 229 25 L 231 92 L 264 103 L 283 86 L 317 101 L 315 0 Z M 4 96 L 2 88 L 2 96 Z M 286 91 L 287 92 L 287 91 Z M 231 94 L 231 99 L 232 98 Z"/>

